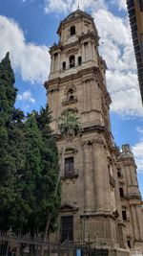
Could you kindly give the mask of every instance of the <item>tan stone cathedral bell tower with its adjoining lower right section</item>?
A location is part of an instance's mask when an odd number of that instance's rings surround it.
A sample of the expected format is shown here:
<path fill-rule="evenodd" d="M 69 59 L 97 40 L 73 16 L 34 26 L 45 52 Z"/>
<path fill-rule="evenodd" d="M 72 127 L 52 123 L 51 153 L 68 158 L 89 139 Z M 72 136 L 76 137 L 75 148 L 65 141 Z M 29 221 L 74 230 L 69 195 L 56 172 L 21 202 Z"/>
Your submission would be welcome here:
<path fill-rule="evenodd" d="M 51 73 L 45 87 L 59 157 L 65 144 L 58 130 L 63 111 L 76 113 L 82 134 L 66 145 L 68 169 L 62 171 L 59 214 L 63 222 L 51 234 L 51 242 L 63 243 L 65 238 L 108 248 L 109 255 L 130 255 L 130 247 L 143 244 L 136 167 L 129 146 L 120 153 L 112 139 L 107 67 L 98 53 L 92 16 L 72 12 L 60 23 L 57 34 L 59 42 L 50 50 Z"/>

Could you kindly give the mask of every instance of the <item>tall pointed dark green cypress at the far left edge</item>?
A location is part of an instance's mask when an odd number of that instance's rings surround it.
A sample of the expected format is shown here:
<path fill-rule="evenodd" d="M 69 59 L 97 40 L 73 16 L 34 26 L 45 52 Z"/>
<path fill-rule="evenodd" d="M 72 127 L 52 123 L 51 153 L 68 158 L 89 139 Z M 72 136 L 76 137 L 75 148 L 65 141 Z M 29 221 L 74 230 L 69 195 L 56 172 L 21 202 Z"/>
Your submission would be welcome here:
<path fill-rule="evenodd" d="M 15 197 L 15 159 L 10 148 L 10 122 L 16 88 L 9 53 L 0 63 L 0 228 L 10 228 L 10 202 Z"/>

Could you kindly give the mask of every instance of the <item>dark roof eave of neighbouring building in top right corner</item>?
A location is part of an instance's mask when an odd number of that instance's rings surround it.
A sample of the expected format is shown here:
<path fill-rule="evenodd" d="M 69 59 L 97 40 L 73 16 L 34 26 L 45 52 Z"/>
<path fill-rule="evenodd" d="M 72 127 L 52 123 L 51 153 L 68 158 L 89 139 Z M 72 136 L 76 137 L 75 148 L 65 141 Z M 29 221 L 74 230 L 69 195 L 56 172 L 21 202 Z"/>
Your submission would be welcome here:
<path fill-rule="evenodd" d="M 138 81 L 143 102 L 143 0 L 127 0 Z"/>

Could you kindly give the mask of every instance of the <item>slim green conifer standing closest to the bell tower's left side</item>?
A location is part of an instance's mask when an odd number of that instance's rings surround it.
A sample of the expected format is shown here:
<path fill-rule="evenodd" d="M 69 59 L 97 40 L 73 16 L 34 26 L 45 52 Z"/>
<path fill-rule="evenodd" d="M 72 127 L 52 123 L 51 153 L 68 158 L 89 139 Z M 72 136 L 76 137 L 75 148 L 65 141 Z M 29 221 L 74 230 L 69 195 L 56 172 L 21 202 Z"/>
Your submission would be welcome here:
<path fill-rule="evenodd" d="M 40 113 L 36 113 L 35 116 L 38 128 L 40 128 L 43 140 L 45 142 L 45 148 L 42 154 L 44 159 L 43 181 L 46 183 L 43 188 L 46 188 L 47 184 L 49 184 L 49 187 L 45 189 L 41 200 L 41 203 L 45 205 L 44 220 L 46 221 L 43 236 L 43 241 L 45 242 L 49 230 L 54 231 L 57 228 L 57 216 L 60 206 L 60 188 L 58 187 L 56 196 L 54 191 L 59 173 L 58 151 L 55 140 L 51 136 L 51 128 L 49 126 L 51 123 L 51 113 L 49 111 L 49 106 L 47 105 L 46 108 L 41 108 Z M 40 195 L 42 194 L 40 193 Z M 46 202 L 47 197 L 49 197 L 49 202 L 44 203 L 44 201 Z M 41 255 L 43 254 L 44 246 L 41 248 Z"/>

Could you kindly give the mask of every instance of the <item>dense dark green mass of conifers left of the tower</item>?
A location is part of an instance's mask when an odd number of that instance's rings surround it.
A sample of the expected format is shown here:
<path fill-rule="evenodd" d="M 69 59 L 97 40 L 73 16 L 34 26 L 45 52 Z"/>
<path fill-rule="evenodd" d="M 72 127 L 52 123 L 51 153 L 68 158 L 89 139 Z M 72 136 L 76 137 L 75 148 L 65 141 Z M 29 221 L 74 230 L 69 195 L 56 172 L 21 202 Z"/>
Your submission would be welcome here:
<path fill-rule="evenodd" d="M 56 228 L 58 154 L 48 105 L 25 116 L 14 107 L 14 81 L 7 54 L 0 63 L 0 229 L 32 235 L 44 231 L 48 210 Z"/>

